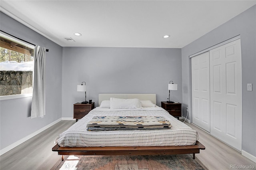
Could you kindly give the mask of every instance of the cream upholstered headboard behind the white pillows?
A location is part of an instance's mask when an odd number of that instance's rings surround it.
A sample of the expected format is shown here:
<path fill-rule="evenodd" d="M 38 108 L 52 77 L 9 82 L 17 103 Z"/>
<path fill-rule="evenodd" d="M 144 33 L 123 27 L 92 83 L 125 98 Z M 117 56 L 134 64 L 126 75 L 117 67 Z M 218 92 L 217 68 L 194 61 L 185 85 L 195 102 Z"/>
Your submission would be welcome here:
<path fill-rule="evenodd" d="M 102 101 L 109 100 L 110 97 L 120 99 L 150 100 L 156 105 L 156 94 L 99 94 L 99 106 Z"/>

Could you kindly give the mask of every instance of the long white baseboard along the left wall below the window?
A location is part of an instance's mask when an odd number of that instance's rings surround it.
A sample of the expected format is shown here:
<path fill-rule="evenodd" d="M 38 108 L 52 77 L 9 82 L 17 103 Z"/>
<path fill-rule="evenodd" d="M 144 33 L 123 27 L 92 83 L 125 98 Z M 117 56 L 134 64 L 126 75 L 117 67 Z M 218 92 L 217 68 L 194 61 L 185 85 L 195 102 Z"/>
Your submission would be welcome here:
<path fill-rule="evenodd" d="M 15 148 L 15 147 L 18 146 L 19 144 L 22 144 L 22 143 L 25 142 L 26 140 L 28 140 L 28 139 L 30 139 L 30 138 L 36 136 L 37 134 L 39 134 L 39 133 L 41 133 L 42 131 L 46 130 L 47 128 L 49 128 L 49 127 L 55 125 L 56 123 L 58 123 L 58 122 L 61 121 L 61 120 L 63 120 L 63 119 L 60 118 L 60 119 L 58 119 L 58 120 L 56 120 L 56 121 L 50 123 L 49 125 L 46 125 L 45 127 L 40 128 L 40 129 L 37 130 L 36 132 L 33 132 L 32 134 L 30 134 L 30 135 L 28 135 L 28 136 L 26 136 L 26 137 L 24 137 L 24 138 L 18 140 L 17 142 L 14 142 L 13 144 L 10 144 L 9 146 L 7 146 L 7 147 L 1 149 L 1 150 L 0 150 L 0 155 L 2 155 L 2 154 L 4 154 L 4 153 L 8 152 L 9 150 Z"/>

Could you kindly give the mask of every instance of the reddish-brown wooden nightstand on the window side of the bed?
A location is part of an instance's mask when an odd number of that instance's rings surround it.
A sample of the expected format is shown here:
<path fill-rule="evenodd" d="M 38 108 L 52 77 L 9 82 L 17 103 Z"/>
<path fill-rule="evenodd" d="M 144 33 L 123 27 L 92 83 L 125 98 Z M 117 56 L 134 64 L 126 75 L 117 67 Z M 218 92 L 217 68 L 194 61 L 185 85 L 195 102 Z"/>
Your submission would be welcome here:
<path fill-rule="evenodd" d="M 82 119 L 85 115 L 87 115 L 92 109 L 94 109 L 94 102 L 92 104 L 82 104 L 82 103 L 75 103 L 74 104 L 74 115 L 73 119 Z"/>

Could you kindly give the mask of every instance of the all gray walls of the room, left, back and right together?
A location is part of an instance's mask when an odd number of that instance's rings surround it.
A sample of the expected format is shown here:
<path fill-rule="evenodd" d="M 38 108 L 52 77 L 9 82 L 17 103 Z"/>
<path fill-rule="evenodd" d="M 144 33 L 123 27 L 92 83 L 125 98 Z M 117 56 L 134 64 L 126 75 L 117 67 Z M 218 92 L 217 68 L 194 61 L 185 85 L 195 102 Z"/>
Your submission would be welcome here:
<path fill-rule="evenodd" d="M 1 12 L 1 30 L 50 51 L 46 53 L 46 116 L 30 119 L 31 97 L 0 101 L 0 149 L 61 117 L 72 117 L 73 104 L 84 101 L 84 93 L 76 91 L 82 81 L 86 81 L 87 100 L 94 99 L 98 106 L 99 93 L 156 93 L 160 105 L 167 100 L 167 84 L 173 80 L 178 91 L 171 93 L 171 100 L 191 110 L 188 56 L 241 35 L 242 149 L 256 156 L 256 90 L 246 91 L 247 83 L 256 85 L 255 21 L 253 6 L 182 49 L 60 47 Z"/>

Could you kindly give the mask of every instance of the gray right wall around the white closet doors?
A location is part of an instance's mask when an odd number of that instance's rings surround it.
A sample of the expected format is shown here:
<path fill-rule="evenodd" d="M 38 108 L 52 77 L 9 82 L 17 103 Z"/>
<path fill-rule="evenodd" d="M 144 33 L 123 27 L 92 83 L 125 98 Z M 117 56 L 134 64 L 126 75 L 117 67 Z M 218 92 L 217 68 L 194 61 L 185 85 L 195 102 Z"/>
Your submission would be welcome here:
<path fill-rule="evenodd" d="M 182 48 L 182 103 L 189 106 L 191 120 L 189 55 L 238 35 L 242 47 L 242 150 L 256 156 L 256 6 Z M 253 84 L 253 91 L 247 91 L 247 83 Z"/>

